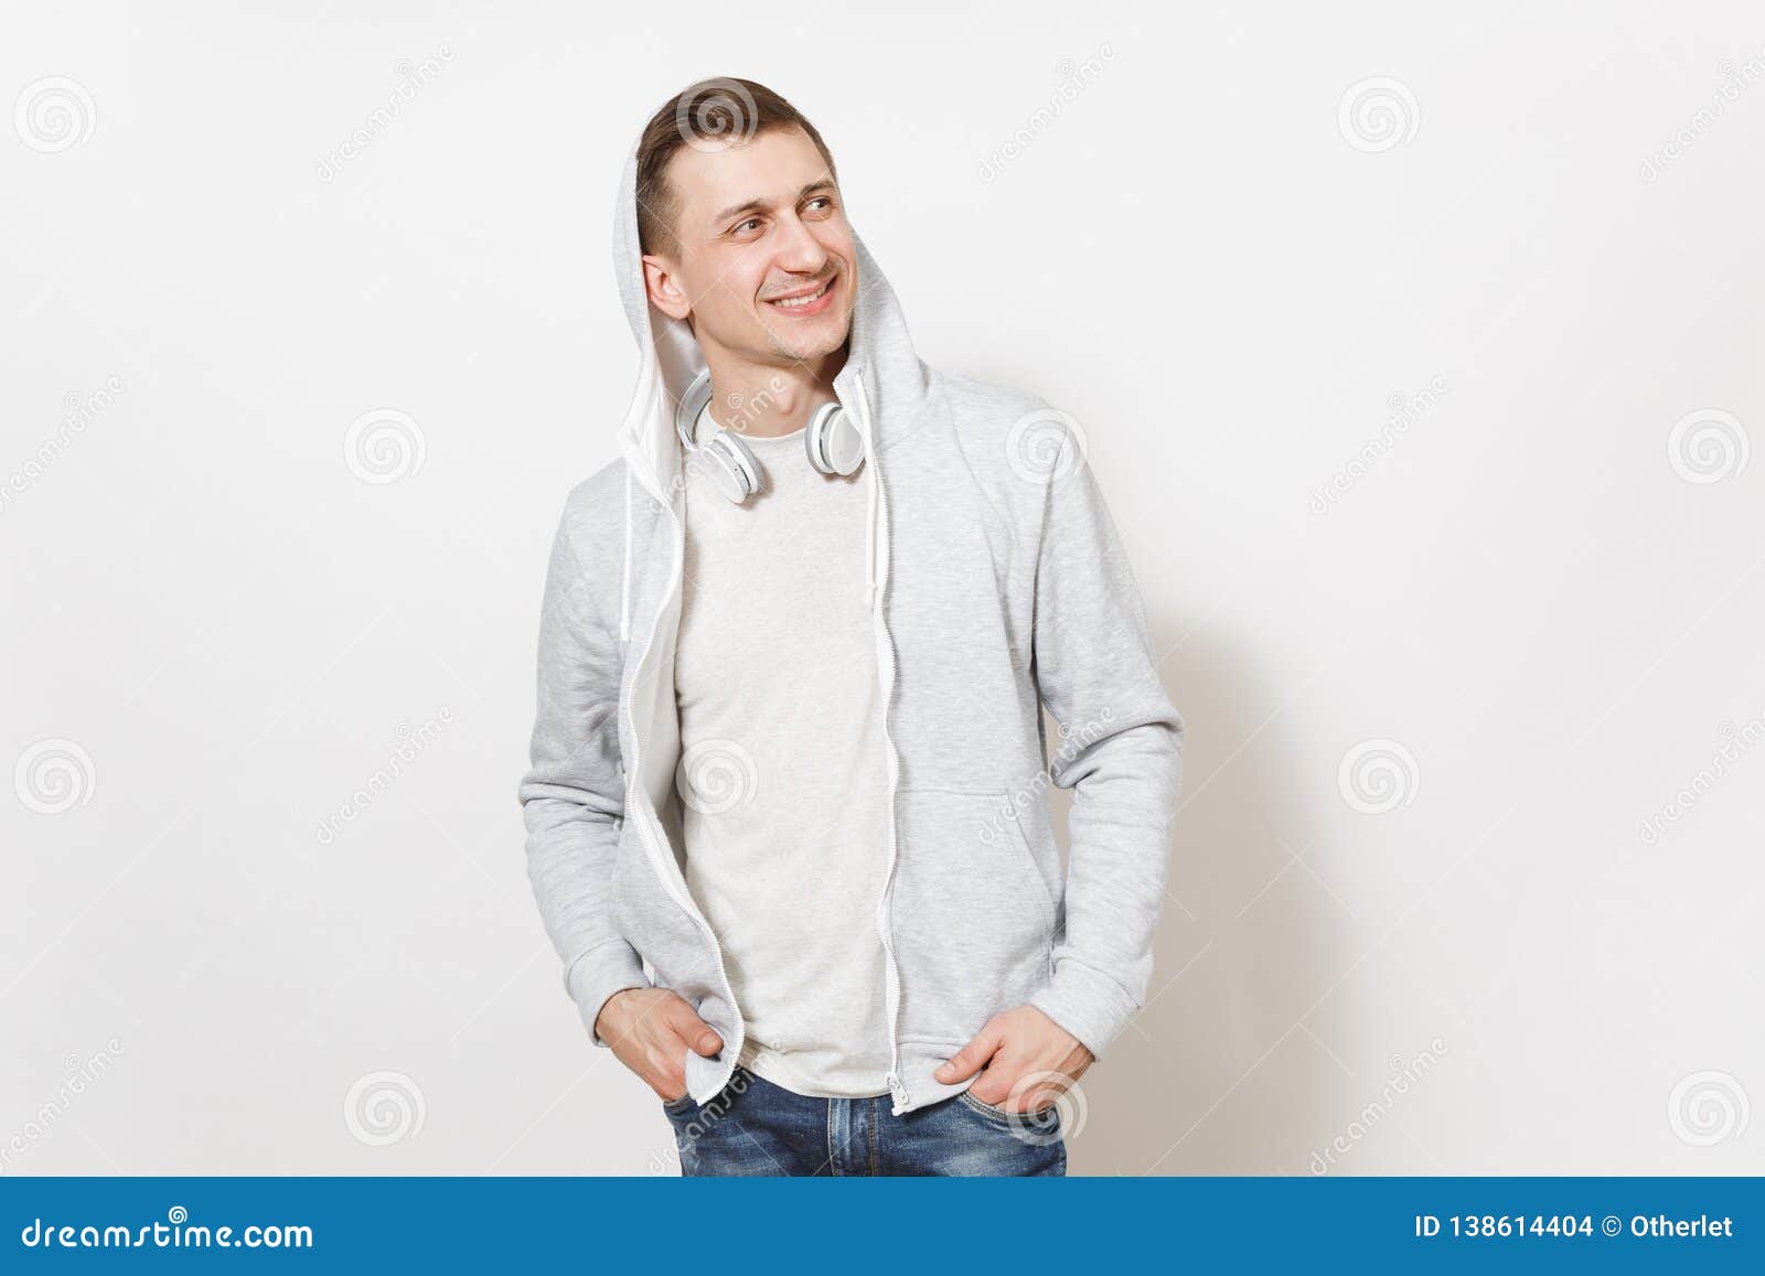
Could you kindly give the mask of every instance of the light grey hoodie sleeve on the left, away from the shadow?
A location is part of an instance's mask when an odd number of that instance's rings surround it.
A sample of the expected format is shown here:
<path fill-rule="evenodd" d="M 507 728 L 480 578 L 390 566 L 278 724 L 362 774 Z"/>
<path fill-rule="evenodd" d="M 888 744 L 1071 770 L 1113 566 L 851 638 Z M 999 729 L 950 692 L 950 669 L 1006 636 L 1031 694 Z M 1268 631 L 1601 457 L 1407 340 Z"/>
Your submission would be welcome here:
<path fill-rule="evenodd" d="M 540 614 L 538 715 L 521 780 L 528 879 L 563 983 L 595 1045 L 595 1020 L 621 988 L 646 988 L 642 962 L 620 934 L 612 865 L 625 822 L 620 755 L 620 642 L 591 607 L 570 547 L 568 514 L 552 540 Z"/>

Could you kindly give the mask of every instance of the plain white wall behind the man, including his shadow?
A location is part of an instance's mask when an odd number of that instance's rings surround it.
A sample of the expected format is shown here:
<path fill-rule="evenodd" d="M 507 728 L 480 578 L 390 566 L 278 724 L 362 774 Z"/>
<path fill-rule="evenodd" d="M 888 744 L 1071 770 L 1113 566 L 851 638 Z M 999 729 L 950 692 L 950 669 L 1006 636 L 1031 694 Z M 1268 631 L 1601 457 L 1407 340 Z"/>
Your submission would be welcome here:
<path fill-rule="evenodd" d="M 1078 418 L 1138 572 L 1174 902 L 1073 1172 L 1765 1172 L 1765 23 L 1574 9 L 14 7 L 5 102 L 85 99 L 0 125 L 4 1172 L 669 1167 L 515 782 L 618 168 L 704 74 L 819 124 L 921 357 Z"/>

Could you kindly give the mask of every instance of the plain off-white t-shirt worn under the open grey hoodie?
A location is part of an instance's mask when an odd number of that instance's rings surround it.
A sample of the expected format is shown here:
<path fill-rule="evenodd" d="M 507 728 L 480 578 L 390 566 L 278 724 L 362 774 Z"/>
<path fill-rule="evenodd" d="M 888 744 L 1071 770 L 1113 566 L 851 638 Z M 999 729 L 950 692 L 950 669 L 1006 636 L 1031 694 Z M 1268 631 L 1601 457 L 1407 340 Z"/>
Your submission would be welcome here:
<path fill-rule="evenodd" d="M 706 409 L 695 443 L 713 429 Z M 687 457 L 674 657 L 687 882 L 748 1025 L 740 1062 L 798 1094 L 888 1094 L 870 478 L 817 473 L 803 431 L 743 441 L 762 471 L 745 505 Z"/>

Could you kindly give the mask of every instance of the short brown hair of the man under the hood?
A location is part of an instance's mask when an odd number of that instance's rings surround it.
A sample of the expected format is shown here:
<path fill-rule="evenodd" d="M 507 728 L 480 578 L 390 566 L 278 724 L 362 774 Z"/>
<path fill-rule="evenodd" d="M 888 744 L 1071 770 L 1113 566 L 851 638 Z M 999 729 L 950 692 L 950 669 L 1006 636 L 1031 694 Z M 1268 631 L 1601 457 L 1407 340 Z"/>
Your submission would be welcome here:
<path fill-rule="evenodd" d="M 717 76 L 701 79 L 674 94 L 637 143 L 637 244 L 644 252 L 680 254 L 674 219 L 680 205 L 667 187 L 667 164 L 681 146 L 701 143 L 748 141 L 770 129 L 801 129 L 833 169 L 833 154 L 801 111 L 778 94 L 752 79 Z"/>

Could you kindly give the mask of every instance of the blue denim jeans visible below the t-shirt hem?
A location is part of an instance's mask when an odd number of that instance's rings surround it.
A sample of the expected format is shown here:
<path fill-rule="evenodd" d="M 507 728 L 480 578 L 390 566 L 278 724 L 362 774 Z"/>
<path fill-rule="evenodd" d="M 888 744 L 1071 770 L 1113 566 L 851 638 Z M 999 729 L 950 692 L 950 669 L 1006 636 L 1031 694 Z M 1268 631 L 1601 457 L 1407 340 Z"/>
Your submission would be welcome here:
<path fill-rule="evenodd" d="M 1066 1174 L 1059 1112 L 1011 1115 L 964 1091 L 891 1115 L 888 1096 L 812 1100 L 736 1068 L 710 1103 L 662 1110 L 685 1175 Z"/>

